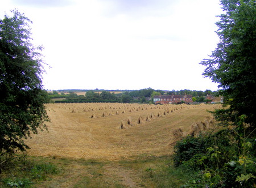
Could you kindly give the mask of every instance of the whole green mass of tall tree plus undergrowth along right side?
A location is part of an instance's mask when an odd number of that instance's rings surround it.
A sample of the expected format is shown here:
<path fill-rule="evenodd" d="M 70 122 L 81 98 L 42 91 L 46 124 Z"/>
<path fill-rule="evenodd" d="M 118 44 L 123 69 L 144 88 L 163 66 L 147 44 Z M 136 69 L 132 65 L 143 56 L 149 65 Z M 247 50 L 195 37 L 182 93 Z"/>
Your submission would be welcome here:
<path fill-rule="evenodd" d="M 221 0 L 221 5 L 220 43 L 201 64 L 207 66 L 204 75 L 219 83 L 229 108 L 212 112 L 218 120 L 212 133 L 177 142 L 175 165 L 197 174 L 181 187 L 256 187 L 256 4 Z"/>

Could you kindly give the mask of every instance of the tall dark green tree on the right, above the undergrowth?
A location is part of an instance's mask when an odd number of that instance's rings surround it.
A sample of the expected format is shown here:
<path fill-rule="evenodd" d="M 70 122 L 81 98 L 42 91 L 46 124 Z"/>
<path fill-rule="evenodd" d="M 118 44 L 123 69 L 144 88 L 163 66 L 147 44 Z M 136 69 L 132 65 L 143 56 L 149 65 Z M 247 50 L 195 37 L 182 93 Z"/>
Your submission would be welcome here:
<path fill-rule="evenodd" d="M 256 3 L 254 0 L 221 0 L 225 14 L 217 22 L 220 42 L 203 75 L 218 83 L 229 101 L 229 113 L 245 114 L 246 122 L 256 124 Z M 232 116 L 230 116 L 232 117 Z M 234 117 L 234 116 L 233 116 Z"/>

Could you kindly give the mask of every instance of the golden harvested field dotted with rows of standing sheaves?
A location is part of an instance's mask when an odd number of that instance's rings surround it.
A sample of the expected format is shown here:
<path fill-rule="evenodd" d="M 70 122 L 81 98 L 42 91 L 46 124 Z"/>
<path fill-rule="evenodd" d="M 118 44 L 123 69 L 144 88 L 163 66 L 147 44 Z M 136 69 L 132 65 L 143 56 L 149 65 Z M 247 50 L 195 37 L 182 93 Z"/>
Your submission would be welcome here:
<path fill-rule="evenodd" d="M 30 155 L 120 160 L 169 155 L 182 136 L 209 129 L 221 105 L 49 104 L 48 131 L 26 142 Z"/>

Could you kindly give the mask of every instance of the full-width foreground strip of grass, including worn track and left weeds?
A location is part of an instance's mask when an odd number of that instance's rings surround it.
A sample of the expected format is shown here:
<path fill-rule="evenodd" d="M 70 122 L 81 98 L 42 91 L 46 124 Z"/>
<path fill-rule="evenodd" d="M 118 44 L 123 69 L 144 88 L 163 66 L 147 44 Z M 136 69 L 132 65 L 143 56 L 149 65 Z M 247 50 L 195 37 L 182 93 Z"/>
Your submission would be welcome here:
<path fill-rule="evenodd" d="M 192 174 L 170 156 L 102 161 L 28 157 L 1 174 L 0 187 L 179 187 Z"/>

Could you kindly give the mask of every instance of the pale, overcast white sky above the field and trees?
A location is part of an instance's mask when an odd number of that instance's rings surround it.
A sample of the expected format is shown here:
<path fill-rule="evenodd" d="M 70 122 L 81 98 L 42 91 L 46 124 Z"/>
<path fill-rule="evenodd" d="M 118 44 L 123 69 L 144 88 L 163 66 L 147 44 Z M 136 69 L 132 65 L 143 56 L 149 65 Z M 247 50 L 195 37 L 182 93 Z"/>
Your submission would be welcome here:
<path fill-rule="evenodd" d="M 219 0 L 5 0 L 43 45 L 44 89 L 216 91 L 199 63 L 219 41 Z"/>

